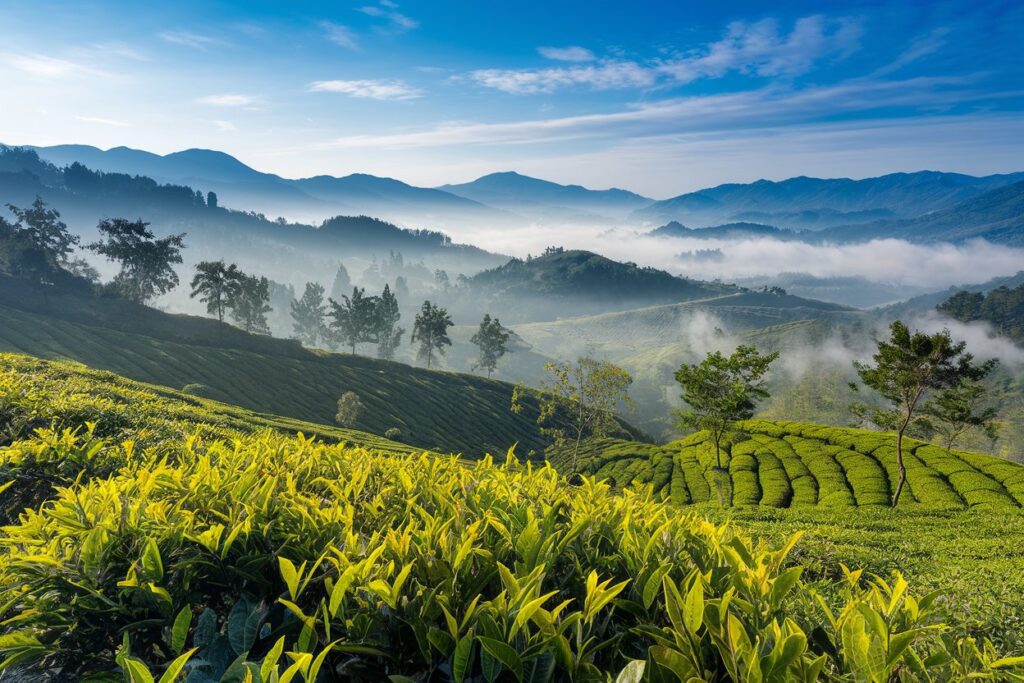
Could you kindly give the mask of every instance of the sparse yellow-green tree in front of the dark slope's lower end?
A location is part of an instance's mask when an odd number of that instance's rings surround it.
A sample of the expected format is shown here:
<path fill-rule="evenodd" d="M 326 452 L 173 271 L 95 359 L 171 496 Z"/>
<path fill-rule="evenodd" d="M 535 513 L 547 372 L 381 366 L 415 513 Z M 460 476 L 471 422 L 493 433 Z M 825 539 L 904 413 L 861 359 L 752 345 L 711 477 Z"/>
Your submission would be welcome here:
<path fill-rule="evenodd" d="M 556 446 L 572 443 L 572 473 L 577 472 L 580 443 L 584 436 L 604 436 L 616 426 L 615 410 L 632 405 L 629 388 L 633 378 L 607 360 L 590 357 L 572 362 L 549 362 L 548 378 L 541 382 L 537 423 L 541 433 Z M 521 385 L 512 394 L 512 411 L 522 410 Z"/>

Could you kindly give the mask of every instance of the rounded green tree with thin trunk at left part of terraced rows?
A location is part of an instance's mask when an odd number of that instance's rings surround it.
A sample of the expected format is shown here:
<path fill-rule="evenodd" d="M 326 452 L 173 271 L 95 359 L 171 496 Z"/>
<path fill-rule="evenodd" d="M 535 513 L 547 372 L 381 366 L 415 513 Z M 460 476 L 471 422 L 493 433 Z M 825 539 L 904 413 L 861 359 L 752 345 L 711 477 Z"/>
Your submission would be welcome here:
<path fill-rule="evenodd" d="M 740 346 L 729 356 L 715 351 L 700 362 L 683 364 L 676 371 L 687 405 L 679 412 L 680 427 L 708 431 L 715 443 L 716 474 L 728 472 L 722 467 L 722 439 L 735 429 L 737 421 L 754 417 L 758 401 L 768 397 L 764 376 L 777 357 L 778 352 L 761 354 L 753 346 Z M 718 476 L 716 483 L 721 503 Z"/>

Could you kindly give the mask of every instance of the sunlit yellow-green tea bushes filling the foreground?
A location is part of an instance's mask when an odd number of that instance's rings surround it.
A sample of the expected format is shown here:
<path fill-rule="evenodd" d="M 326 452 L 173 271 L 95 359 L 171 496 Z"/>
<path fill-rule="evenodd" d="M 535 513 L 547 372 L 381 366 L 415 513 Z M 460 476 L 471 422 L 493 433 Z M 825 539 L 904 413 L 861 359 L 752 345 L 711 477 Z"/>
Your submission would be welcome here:
<path fill-rule="evenodd" d="M 0 356 L 0 495 L 26 503 L 0 526 L 0 676 L 1024 675 L 1012 636 L 965 603 L 847 569 L 818 545 L 808 554 L 799 533 L 759 526 L 770 520 L 752 520 L 768 539 L 756 541 L 709 520 L 724 508 L 650 487 L 570 485 L 511 454 L 470 463 L 351 431 L 319 432 L 344 444 L 283 433 L 296 427 L 311 426 Z M 644 455 L 687 447 L 699 444 Z M 912 532 L 912 517 L 898 519 Z"/>

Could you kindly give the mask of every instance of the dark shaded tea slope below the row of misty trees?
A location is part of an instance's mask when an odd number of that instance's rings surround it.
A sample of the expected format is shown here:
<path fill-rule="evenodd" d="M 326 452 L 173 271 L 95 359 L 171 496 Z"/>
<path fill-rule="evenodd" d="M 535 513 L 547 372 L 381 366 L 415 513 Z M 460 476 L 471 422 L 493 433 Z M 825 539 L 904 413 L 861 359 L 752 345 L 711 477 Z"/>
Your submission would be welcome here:
<path fill-rule="evenodd" d="M 478 457 L 541 450 L 536 423 L 509 411 L 512 385 L 362 356 L 313 352 L 245 335 L 215 321 L 124 302 L 49 295 L 0 281 L 0 351 L 74 359 L 135 380 L 182 387 L 260 413 L 331 424 L 335 401 L 355 391 L 355 428 L 436 451 Z M 33 311 L 45 311 L 40 314 Z"/>

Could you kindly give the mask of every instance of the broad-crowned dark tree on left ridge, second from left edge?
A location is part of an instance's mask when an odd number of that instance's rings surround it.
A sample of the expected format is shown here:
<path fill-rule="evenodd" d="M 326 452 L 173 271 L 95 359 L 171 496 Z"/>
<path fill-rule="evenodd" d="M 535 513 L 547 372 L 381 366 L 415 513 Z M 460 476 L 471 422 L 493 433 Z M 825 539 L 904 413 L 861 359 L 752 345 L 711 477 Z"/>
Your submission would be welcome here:
<path fill-rule="evenodd" d="M 121 264 L 114 289 L 136 303 L 171 291 L 178 285 L 174 264 L 181 263 L 184 233 L 158 240 L 142 220 L 103 219 L 96 229 L 105 241 L 89 245 L 91 251 Z"/>

